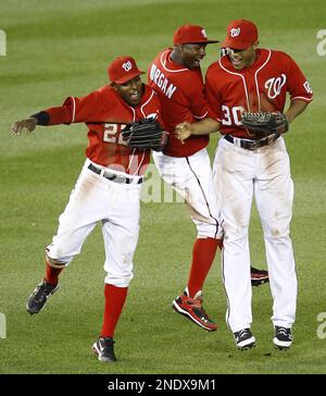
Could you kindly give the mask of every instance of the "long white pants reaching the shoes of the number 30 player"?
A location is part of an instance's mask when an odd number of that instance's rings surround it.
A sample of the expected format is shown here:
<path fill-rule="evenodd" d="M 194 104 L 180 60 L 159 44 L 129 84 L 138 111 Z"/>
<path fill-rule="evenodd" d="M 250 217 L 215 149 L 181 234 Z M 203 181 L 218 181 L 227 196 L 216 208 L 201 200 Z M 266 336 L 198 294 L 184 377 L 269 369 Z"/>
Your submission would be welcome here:
<path fill-rule="evenodd" d="M 252 322 L 248 227 L 253 196 L 264 232 L 274 299 L 272 321 L 274 325 L 291 327 L 297 302 L 296 264 L 289 236 L 293 183 L 284 139 L 279 137 L 254 151 L 220 139 L 213 180 L 225 232 L 223 276 L 230 330 L 250 327 Z"/>

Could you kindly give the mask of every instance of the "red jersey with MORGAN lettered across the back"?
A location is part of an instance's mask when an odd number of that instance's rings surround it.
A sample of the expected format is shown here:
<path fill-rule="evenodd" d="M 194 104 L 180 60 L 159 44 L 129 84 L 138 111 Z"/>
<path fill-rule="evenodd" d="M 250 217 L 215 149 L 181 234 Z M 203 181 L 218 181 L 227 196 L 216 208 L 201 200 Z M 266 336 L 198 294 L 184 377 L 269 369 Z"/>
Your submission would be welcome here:
<path fill-rule="evenodd" d="M 190 136 L 183 145 L 174 137 L 175 126 L 184 121 L 195 122 L 208 116 L 204 85 L 200 67 L 190 70 L 174 63 L 172 49 L 159 53 L 149 67 L 148 85 L 159 95 L 162 119 L 170 140 L 164 153 L 187 157 L 206 147 L 209 136 Z"/>

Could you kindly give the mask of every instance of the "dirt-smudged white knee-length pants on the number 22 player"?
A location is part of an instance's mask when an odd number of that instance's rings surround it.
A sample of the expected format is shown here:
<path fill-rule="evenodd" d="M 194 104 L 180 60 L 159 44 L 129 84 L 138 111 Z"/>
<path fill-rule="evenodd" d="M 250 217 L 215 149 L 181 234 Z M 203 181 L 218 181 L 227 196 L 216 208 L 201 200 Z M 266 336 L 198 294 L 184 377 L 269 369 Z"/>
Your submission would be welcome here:
<path fill-rule="evenodd" d="M 59 218 L 59 228 L 47 248 L 51 259 L 68 264 L 98 222 L 102 224 L 105 248 L 105 283 L 127 287 L 133 279 L 133 257 L 139 234 L 141 184 L 116 183 L 88 169 L 86 160 Z M 97 168 L 101 168 L 92 163 Z M 108 170 L 109 171 L 109 170 Z"/>

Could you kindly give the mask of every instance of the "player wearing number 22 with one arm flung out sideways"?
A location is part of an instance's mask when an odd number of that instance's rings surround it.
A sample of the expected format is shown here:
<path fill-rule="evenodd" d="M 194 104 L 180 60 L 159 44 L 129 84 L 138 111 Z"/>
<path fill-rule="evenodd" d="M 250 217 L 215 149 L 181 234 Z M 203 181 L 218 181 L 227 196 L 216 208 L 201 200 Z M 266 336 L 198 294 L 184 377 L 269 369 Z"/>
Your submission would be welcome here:
<path fill-rule="evenodd" d="M 161 122 L 158 95 L 142 84 L 141 72 L 130 57 L 116 58 L 108 69 L 110 85 L 83 97 L 68 97 L 12 126 L 18 135 L 36 125 L 86 123 L 86 162 L 59 228 L 46 249 L 46 274 L 29 296 L 26 309 L 38 313 L 59 287 L 59 274 L 80 252 L 97 222 L 102 224 L 105 247 L 104 317 L 92 346 L 100 361 L 113 362 L 114 330 L 133 279 L 133 256 L 139 232 L 139 201 L 150 150 L 130 149 L 122 136 L 127 123 L 146 117 Z M 159 149 L 159 148 L 158 148 Z"/>

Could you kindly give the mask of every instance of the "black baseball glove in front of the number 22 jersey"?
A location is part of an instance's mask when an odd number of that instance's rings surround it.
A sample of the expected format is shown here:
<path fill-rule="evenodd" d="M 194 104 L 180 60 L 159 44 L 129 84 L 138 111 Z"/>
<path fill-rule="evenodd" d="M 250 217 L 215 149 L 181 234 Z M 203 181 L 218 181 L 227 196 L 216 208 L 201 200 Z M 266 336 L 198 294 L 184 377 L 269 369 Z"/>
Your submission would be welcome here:
<path fill-rule="evenodd" d="M 129 147 L 138 150 L 162 151 L 167 143 L 167 134 L 154 119 L 135 121 L 123 129 L 122 135 Z"/>

